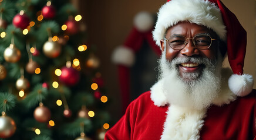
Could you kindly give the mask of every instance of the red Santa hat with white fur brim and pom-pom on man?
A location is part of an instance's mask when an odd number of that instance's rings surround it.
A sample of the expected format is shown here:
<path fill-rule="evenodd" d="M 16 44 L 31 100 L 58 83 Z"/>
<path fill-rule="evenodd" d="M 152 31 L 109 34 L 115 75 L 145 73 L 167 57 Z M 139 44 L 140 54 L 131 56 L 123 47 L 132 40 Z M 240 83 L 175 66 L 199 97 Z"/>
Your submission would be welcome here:
<path fill-rule="evenodd" d="M 153 30 L 153 38 L 159 47 L 166 30 L 181 21 L 206 26 L 227 43 L 228 61 L 234 73 L 228 86 L 237 96 L 248 95 L 252 91 L 253 78 L 243 74 L 247 33 L 234 13 L 220 0 L 169 0 L 161 6 Z"/>

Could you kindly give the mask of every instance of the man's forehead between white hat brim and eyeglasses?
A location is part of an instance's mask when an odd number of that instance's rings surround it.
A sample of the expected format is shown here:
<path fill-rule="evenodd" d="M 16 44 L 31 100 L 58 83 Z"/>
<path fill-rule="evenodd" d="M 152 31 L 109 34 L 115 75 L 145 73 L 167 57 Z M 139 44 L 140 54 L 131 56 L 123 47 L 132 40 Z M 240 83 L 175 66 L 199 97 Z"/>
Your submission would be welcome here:
<path fill-rule="evenodd" d="M 176 25 L 169 27 L 166 31 L 166 36 L 169 37 L 173 34 L 181 34 L 183 36 L 193 37 L 201 33 L 208 33 L 212 37 L 217 37 L 217 34 L 206 26 L 189 22 L 179 22 Z"/>

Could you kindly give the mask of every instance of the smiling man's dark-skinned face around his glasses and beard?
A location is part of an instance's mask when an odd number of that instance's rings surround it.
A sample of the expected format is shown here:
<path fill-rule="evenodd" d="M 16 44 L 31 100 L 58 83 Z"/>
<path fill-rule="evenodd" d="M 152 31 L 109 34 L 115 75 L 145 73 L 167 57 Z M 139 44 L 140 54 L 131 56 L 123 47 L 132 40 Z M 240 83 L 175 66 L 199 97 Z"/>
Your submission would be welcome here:
<path fill-rule="evenodd" d="M 189 23 L 189 22 L 180 22 L 169 29 L 167 29 L 166 38 L 168 39 L 173 34 L 180 34 L 187 38 L 193 38 L 197 34 L 208 33 L 211 38 L 217 39 L 217 34 L 214 31 L 208 29 L 207 27 L 200 26 L 198 24 Z M 213 41 L 211 47 L 206 50 L 200 50 L 196 48 L 192 40 L 188 40 L 188 44 L 181 50 L 173 50 L 168 44 L 164 46 L 164 40 L 161 40 L 161 50 L 164 51 L 166 47 L 166 60 L 173 60 L 176 57 L 192 57 L 200 56 L 207 57 L 210 60 L 217 58 L 217 41 Z M 178 70 L 180 75 L 182 72 L 201 72 L 203 70 L 203 65 L 194 64 L 192 62 L 186 62 L 186 64 L 178 65 Z"/>

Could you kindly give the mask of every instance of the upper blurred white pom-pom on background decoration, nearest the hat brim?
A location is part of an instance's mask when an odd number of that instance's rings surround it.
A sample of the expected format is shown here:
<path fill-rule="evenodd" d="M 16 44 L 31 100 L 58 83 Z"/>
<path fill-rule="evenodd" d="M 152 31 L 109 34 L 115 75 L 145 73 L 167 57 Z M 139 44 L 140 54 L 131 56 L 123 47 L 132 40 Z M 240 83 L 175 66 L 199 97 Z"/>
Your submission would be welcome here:
<path fill-rule="evenodd" d="M 153 16 L 149 12 L 137 13 L 133 22 L 136 29 L 141 32 L 149 31 L 154 26 Z"/>

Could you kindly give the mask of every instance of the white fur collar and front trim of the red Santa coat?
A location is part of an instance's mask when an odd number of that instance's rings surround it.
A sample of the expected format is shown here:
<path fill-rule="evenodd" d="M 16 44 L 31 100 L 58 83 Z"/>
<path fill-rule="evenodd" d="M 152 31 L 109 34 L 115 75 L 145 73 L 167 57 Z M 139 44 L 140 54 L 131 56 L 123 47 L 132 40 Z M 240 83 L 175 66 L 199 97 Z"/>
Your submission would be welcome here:
<path fill-rule="evenodd" d="M 232 74 L 230 69 L 222 69 L 223 82 L 221 92 L 213 101 L 213 104 L 222 106 L 234 101 L 235 96 L 228 88 L 228 78 Z M 151 88 L 151 100 L 156 106 L 166 106 L 168 103 L 163 92 L 163 81 L 160 80 Z M 206 117 L 206 109 L 191 110 L 191 108 L 179 107 L 171 104 L 167 111 L 166 121 L 164 122 L 164 131 L 161 139 L 200 139 L 200 129 L 203 126 L 203 118 Z M 170 125 L 171 124 L 171 125 Z"/>

